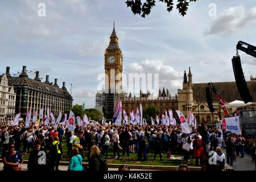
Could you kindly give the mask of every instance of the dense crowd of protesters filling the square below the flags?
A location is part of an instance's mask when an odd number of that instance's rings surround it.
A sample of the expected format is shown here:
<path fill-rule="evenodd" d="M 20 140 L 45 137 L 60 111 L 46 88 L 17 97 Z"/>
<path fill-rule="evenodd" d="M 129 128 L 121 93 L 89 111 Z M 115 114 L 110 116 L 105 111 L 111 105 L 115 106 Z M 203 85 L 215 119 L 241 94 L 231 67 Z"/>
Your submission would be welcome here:
<path fill-rule="evenodd" d="M 64 137 L 67 138 L 68 147 L 64 155 L 68 156 L 70 171 L 86 168 L 92 171 L 106 170 L 111 145 L 114 159 L 121 160 L 122 156 L 129 156 L 131 152 L 137 153 L 137 160 L 145 161 L 148 160 L 149 152 L 154 154 L 154 160 L 158 155 L 159 160 L 163 160 L 166 156 L 170 158 L 175 154 L 183 154 L 184 164 L 189 165 L 191 158 L 195 158 L 196 165 L 202 166 L 202 169 L 209 166 L 204 162 L 209 158 L 209 152 L 215 151 L 213 158 L 217 159 L 217 163 L 214 163 L 214 169 L 220 171 L 224 169 L 225 162 L 232 166 L 236 156 L 243 158 L 245 147 L 249 148 L 252 160 L 255 160 L 253 137 L 245 140 L 241 135 L 222 134 L 218 130 L 206 129 L 204 124 L 192 129 L 192 133 L 182 133 L 180 126 L 164 125 L 115 126 L 91 123 L 84 128 L 76 126 L 73 131 L 68 131 L 67 126 L 63 125 L 57 128 L 54 125 L 36 127 L 32 123 L 26 128 L 24 124 L 5 124 L 1 125 L 0 135 L 1 154 L 7 171 L 14 170 L 13 166 L 21 168 L 22 154 L 28 153 L 29 171 L 38 167 L 58 171 L 63 156 Z M 226 155 L 222 152 L 224 147 Z M 47 156 L 46 161 L 42 161 L 43 165 L 38 164 L 40 151 L 44 151 Z M 87 160 L 89 165 L 83 166 L 83 160 Z"/>

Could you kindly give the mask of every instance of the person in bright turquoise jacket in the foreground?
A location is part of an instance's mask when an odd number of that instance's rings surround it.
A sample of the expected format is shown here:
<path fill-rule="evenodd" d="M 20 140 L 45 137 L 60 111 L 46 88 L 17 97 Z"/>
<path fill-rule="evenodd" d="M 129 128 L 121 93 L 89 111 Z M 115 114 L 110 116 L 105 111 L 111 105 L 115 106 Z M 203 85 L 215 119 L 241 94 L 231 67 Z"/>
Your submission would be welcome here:
<path fill-rule="evenodd" d="M 75 147 L 72 151 L 72 158 L 69 160 L 68 171 L 83 171 L 82 156 L 79 154 L 79 149 Z"/>

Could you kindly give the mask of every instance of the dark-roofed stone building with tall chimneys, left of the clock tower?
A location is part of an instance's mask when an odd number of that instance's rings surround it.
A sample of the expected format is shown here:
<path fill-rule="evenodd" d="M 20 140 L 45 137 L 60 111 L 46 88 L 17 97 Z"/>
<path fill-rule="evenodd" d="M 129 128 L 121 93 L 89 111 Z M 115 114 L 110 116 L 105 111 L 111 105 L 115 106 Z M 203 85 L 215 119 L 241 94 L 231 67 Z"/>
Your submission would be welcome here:
<path fill-rule="evenodd" d="M 40 109 L 44 109 L 46 115 L 47 107 L 53 115 L 58 115 L 59 111 L 64 113 L 64 110 L 72 107 L 73 98 L 65 88 L 59 88 L 57 79 L 55 84 L 49 82 L 49 76 L 46 76 L 46 81 L 42 82 L 39 78 L 39 72 L 36 72 L 36 77 L 31 79 L 26 73 L 26 66 L 23 66 L 22 73 L 18 77 L 10 75 L 10 67 L 6 68 L 6 74 L 9 85 L 13 86 L 16 93 L 15 113 L 21 113 L 21 117 L 26 117 L 26 111 L 31 110 L 33 114 Z"/>

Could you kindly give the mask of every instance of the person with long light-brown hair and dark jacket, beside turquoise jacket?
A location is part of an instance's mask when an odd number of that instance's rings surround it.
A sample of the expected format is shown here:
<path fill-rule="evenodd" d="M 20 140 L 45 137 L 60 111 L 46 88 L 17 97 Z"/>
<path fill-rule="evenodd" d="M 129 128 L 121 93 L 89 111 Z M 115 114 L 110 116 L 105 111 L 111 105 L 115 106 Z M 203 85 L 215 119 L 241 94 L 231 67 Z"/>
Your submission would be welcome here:
<path fill-rule="evenodd" d="M 89 171 L 108 171 L 106 160 L 96 145 L 90 149 Z"/>

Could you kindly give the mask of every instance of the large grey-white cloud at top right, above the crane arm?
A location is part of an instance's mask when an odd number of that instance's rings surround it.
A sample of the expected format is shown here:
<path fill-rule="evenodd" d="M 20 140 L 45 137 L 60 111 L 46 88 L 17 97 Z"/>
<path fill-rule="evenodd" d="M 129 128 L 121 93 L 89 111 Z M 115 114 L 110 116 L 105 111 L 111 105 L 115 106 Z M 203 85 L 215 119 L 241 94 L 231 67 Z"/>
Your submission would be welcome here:
<path fill-rule="evenodd" d="M 246 11 L 245 7 L 237 6 L 220 13 L 204 35 L 232 34 L 249 26 L 256 20 L 256 7 Z"/>

